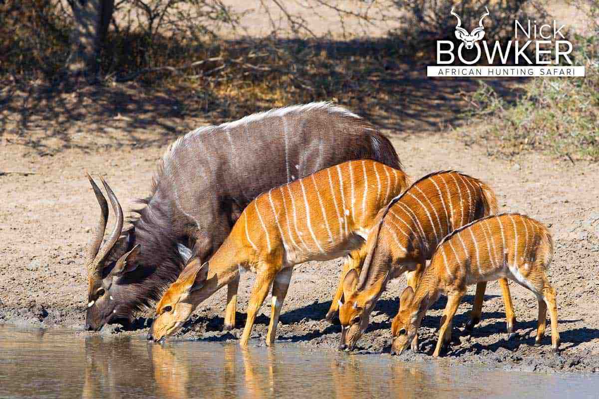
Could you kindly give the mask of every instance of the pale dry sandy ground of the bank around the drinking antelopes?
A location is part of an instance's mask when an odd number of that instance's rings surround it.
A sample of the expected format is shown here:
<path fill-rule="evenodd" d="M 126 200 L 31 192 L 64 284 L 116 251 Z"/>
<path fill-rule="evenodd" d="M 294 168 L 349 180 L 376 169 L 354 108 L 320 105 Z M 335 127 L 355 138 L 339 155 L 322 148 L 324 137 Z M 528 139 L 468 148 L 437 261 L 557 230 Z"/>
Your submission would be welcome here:
<path fill-rule="evenodd" d="M 105 176 L 123 207 L 132 208 L 135 198 L 149 192 L 155 162 L 164 145 L 190 126 L 207 123 L 201 117 L 178 116 L 167 96 L 162 98 L 155 93 L 150 101 L 145 95 L 138 90 L 131 98 L 122 94 L 124 97 L 119 100 L 120 97 L 99 96 L 95 90 L 80 90 L 55 98 L 63 101 L 65 110 L 77 110 L 60 117 L 47 108 L 29 114 L 26 110 L 3 111 L 0 322 L 61 325 L 72 327 L 78 334 L 88 334 L 81 332 L 86 310 L 83 248 L 98 209 L 84 171 Z M 31 93 L 29 96 L 35 97 Z M 380 124 L 401 125 L 392 118 Z M 427 126 L 432 125 L 431 122 Z M 476 126 L 465 129 L 475 130 Z M 392 138 L 410 176 L 454 168 L 484 179 L 497 192 L 501 211 L 530 214 L 549 225 L 555 238 L 550 279 L 558 290 L 561 355 L 550 353 L 549 337 L 545 338 L 546 345 L 533 346 L 536 298 L 513 284 L 518 335 L 506 341 L 503 303 L 497 283 L 491 283 L 483 321 L 471 337 L 462 335 L 461 325 L 467 319 L 472 296 L 468 295 L 462 304 L 456 318 L 456 325 L 460 326 L 456 335 L 460 337 L 449 350 L 450 358 L 522 370 L 599 372 L 599 166 L 582 161 L 572 164 L 537 153 L 511 161 L 491 158 L 485 143 L 464 144 L 464 138 L 453 131 L 384 131 Z M 335 260 L 296 268 L 281 316 L 279 340 L 326 349 L 336 347 L 340 327 L 322 318 L 340 265 L 341 261 Z M 250 274 L 245 276 L 240 289 L 241 312 L 253 279 Z M 397 297 L 404 285 L 403 279 L 389 284 L 359 350 L 388 353 L 391 319 L 397 312 Z M 182 335 L 235 340 L 243 327 L 244 313 L 238 313 L 237 330 L 221 333 L 224 295 L 219 292 L 202 304 Z M 270 300 L 265 301 L 268 303 Z M 421 353 L 409 352 L 401 359 L 422 359 L 432 352 L 443 306 L 441 299 L 425 319 Z M 266 315 L 270 313 L 267 305 L 262 312 L 255 336 L 263 338 Z M 102 333 L 146 334 L 145 322 L 140 317 L 137 330 L 122 331 L 113 325 Z"/>

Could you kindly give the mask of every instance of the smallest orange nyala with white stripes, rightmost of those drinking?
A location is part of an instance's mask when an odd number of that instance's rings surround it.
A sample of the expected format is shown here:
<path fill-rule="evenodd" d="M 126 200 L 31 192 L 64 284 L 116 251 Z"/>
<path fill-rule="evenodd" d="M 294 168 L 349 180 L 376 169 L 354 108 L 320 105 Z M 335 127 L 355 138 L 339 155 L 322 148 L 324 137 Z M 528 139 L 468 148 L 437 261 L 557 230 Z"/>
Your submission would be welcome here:
<path fill-rule="evenodd" d="M 416 290 L 408 287 L 400 297 L 400 312 L 392 324 L 392 353 L 401 353 L 416 336 L 426 310 L 439 295 L 447 295 L 434 356 L 449 341 L 448 327 L 468 285 L 512 279 L 530 289 L 539 300 L 536 345 L 545 332 L 547 307 L 551 318 L 553 352 L 558 352 L 558 314 L 555 289 L 547 280 L 553 241 L 537 220 L 517 213 L 485 217 L 447 235 L 437 246 L 431 264 Z"/>

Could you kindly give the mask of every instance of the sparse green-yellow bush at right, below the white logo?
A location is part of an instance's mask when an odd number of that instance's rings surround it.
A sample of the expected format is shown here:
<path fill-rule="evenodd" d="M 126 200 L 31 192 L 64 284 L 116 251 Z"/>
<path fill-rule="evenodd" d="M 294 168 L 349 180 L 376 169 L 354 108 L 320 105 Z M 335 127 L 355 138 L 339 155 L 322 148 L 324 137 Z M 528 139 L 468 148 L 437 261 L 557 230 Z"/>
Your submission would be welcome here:
<path fill-rule="evenodd" d="M 541 150 L 570 161 L 599 161 L 599 37 L 574 38 L 574 62 L 582 78 L 534 78 L 512 104 L 480 81 L 465 117 L 480 123 L 477 137 L 491 152 L 514 156 Z"/>

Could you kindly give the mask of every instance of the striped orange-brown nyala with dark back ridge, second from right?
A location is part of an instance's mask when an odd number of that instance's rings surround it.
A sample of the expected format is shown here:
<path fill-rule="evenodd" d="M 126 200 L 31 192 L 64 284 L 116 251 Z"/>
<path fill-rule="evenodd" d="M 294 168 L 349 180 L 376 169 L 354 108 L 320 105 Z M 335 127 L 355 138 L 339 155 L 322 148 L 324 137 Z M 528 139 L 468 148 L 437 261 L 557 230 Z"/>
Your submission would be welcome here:
<path fill-rule="evenodd" d="M 378 228 L 368 235 L 368 256 L 361 273 L 350 270 L 343 280 L 343 303 L 339 310 L 339 349 L 352 350 L 368 327 L 370 313 L 388 280 L 409 272 L 408 284 L 416 288 L 426 259 L 445 235 L 497 210 L 492 190 L 478 179 L 456 171 L 440 171 L 415 182 L 395 198 L 377 217 Z M 359 281 L 358 281 L 359 276 Z M 515 317 L 507 280 L 501 279 L 506 303 L 507 330 Z M 486 283 L 477 286 L 468 330 L 480 320 Z M 415 337 L 412 348 L 416 350 Z"/>

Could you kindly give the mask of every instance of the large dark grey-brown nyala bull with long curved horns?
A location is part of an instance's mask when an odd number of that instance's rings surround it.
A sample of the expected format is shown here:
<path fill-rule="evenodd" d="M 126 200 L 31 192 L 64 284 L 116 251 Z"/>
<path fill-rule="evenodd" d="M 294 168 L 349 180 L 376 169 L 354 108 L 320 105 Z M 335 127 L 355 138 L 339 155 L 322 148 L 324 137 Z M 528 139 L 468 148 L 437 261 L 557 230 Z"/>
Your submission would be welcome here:
<path fill-rule="evenodd" d="M 86 254 L 86 329 L 124 324 L 158 300 L 190 256 L 210 258 L 261 192 L 352 159 L 401 168 L 393 146 L 373 125 L 327 102 L 196 129 L 168 147 L 151 194 L 141 201 L 145 206 L 125 231 L 119 201 L 105 185 L 117 223 L 102 248 L 108 203 L 90 179 L 101 214 Z M 124 265 L 119 260 L 127 267 L 117 267 Z M 237 283 L 228 287 L 225 330 L 235 325 Z"/>

